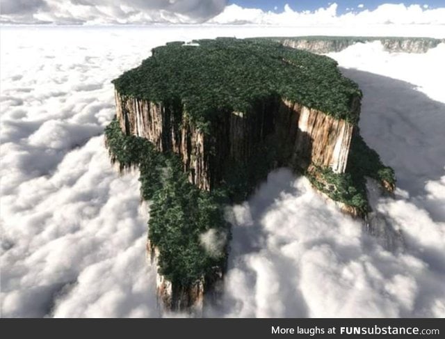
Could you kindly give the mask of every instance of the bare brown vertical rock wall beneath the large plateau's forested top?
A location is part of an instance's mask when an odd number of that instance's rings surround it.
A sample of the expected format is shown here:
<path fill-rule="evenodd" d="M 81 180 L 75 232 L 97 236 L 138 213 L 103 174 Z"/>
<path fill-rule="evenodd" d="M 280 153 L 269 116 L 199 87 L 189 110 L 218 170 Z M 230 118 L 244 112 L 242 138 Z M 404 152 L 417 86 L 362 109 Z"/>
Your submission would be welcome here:
<path fill-rule="evenodd" d="M 115 102 L 122 131 L 148 139 L 161 152 L 177 153 L 200 189 L 218 187 L 225 180 L 227 158 L 245 161 L 270 136 L 291 152 L 277 166 L 346 169 L 353 125 L 296 102 L 275 98 L 257 105 L 257 112 L 224 112 L 209 135 L 188 123 L 181 107 L 123 97 L 118 91 Z M 359 110 L 358 98 L 353 109 Z"/>

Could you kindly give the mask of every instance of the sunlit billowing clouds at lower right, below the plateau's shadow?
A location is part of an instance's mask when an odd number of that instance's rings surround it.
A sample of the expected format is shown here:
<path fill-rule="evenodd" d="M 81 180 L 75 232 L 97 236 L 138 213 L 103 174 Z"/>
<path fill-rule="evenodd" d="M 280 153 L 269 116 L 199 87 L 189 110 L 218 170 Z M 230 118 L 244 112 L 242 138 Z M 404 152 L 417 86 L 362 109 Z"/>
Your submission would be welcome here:
<path fill-rule="evenodd" d="M 412 236 L 405 247 L 388 249 L 382 246 L 388 235 L 376 241 L 304 178 L 286 170 L 271 174 L 256 196 L 234 207 L 227 309 L 212 315 L 443 316 L 445 223 L 402 196 L 398 191 L 396 200 L 377 203 L 387 227 L 397 230 L 392 236 Z M 435 258 L 420 255 L 430 250 Z"/>

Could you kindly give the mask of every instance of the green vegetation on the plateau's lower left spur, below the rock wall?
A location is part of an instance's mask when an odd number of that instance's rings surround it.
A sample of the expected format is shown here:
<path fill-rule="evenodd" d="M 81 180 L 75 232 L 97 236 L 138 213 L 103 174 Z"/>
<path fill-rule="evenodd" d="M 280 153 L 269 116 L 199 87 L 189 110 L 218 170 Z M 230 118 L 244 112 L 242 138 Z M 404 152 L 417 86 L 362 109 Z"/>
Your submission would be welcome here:
<path fill-rule="evenodd" d="M 118 120 L 106 127 L 105 137 L 111 161 L 121 171 L 140 168 L 141 195 L 152 200 L 149 239 L 159 249 L 159 273 L 181 286 L 212 278 L 224 267 L 227 249 L 209 253 L 200 237 L 213 229 L 227 239 L 225 195 L 197 189 L 188 182 L 177 155 L 162 154 L 147 139 L 123 134 Z"/>

